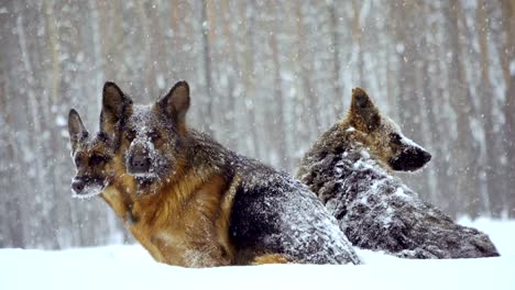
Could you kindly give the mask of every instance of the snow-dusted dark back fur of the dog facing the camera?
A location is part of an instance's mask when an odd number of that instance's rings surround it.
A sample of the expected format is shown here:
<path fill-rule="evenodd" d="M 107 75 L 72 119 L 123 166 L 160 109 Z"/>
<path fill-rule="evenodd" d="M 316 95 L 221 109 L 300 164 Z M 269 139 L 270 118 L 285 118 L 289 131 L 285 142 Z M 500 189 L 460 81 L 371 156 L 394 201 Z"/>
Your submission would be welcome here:
<path fill-rule="evenodd" d="M 197 156 L 233 168 L 241 179 L 231 216 L 234 241 L 286 254 L 298 263 L 360 264 L 335 217 L 299 180 L 240 156 L 205 134 L 190 133 Z"/>

